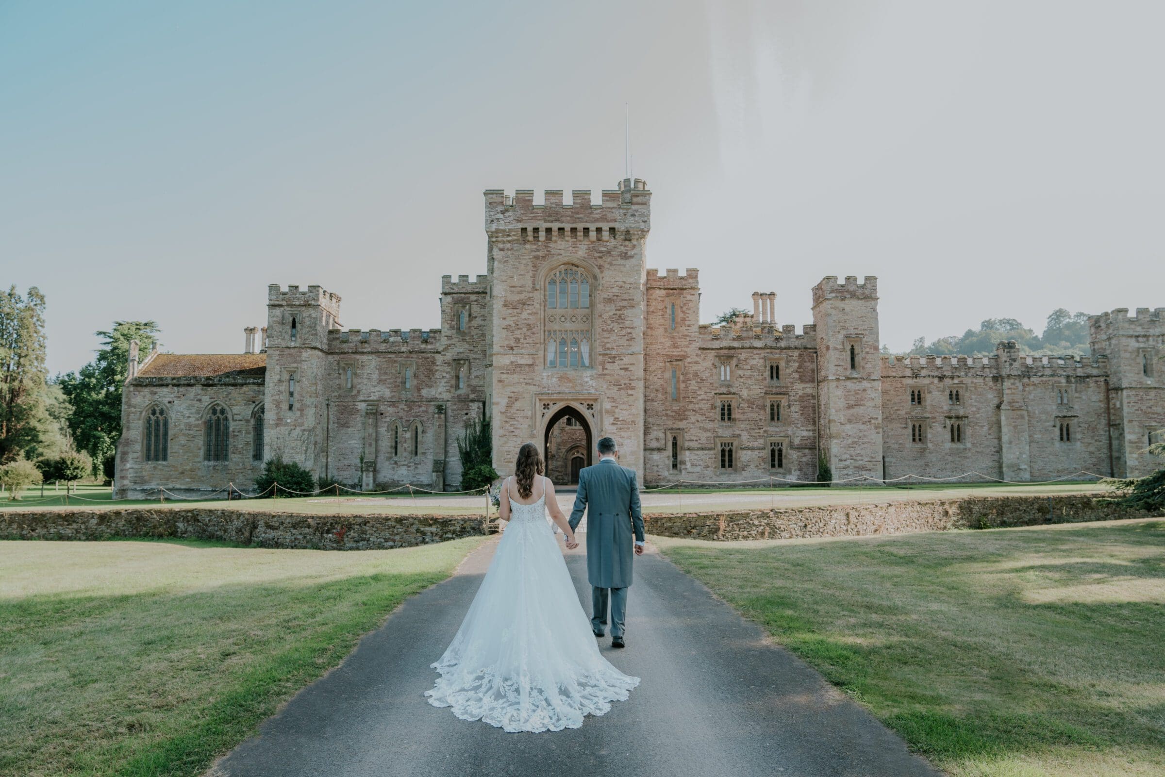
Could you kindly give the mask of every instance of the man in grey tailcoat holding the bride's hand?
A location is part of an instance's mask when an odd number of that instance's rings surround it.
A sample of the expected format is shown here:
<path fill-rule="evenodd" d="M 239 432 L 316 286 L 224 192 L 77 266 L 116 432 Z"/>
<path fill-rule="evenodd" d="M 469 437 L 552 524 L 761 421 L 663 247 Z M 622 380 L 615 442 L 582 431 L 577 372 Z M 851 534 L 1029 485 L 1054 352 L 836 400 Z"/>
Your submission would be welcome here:
<path fill-rule="evenodd" d="M 620 466 L 615 440 L 599 440 L 599 464 L 579 472 L 579 490 L 571 510 L 571 529 L 586 521 L 586 571 L 591 580 L 591 628 L 603 636 L 610 596 L 610 647 L 622 648 L 627 588 L 631 585 L 631 525 L 635 555 L 643 555 L 643 514 L 635 471 Z"/>

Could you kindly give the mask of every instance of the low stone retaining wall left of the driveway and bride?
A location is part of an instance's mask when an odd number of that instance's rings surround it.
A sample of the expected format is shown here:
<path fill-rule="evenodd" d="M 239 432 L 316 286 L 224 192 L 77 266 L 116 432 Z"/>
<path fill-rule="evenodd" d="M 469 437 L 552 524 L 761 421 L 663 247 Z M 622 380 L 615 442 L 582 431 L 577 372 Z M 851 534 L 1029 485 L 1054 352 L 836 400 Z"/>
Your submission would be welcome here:
<path fill-rule="evenodd" d="M 181 537 L 261 548 L 373 550 L 481 532 L 482 518 L 472 515 L 305 515 L 205 508 L 0 511 L 0 539 Z"/>

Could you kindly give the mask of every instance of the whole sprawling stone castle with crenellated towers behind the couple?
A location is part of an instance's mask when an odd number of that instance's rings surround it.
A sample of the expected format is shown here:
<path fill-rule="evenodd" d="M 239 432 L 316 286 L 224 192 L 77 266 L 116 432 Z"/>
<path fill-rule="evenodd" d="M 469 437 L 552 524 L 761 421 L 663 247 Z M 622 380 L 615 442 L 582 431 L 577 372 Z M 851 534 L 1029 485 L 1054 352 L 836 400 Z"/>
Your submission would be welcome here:
<path fill-rule="evenodd" d="M 573 482 L 613 437 L 641 483 L 869 482 L 913 474 L 1039 481 L 1145 474 L 1165 436 L 1165 309 L 1092 319 L 1092 355 L 880 353 L 877 282 L 826 277 L 813 323 L 774 292 L 699 323 L 697 270 L 648 269 L 651 192 L 485 192 L 487 268 L 442 278 L 440 329 L 346 330 L 317 285 L 267 295 L 242 354 L 130 354 L 116 497 L 248 489 L 274 454 L 375 490 L 456 490 L 483 414 L 494 466 L 543 445 Z M 1156 437 L 1155 437 L 1156 436 Z"/>

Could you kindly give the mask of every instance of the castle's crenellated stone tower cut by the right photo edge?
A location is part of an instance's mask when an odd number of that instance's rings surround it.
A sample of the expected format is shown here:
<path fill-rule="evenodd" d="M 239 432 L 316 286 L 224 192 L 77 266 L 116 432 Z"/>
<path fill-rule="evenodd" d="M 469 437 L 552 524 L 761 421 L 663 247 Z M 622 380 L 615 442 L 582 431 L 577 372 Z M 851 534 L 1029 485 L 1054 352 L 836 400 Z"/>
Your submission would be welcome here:
<path fill-rule="evenodd" d="M 1165 308 L 1117 308 L 1088 319 L 1089 346 L 1108 356 L 1113 469 L 1143 478 L 1159 466 L 1144 452 L 1165 443 Z"/>

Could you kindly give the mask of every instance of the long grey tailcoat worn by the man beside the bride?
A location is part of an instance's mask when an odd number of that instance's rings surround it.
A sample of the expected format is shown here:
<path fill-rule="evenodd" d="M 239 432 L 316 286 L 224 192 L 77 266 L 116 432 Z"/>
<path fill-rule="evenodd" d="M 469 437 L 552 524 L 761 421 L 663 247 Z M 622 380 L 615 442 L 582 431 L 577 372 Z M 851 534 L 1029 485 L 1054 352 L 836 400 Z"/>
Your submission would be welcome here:
<path fill-rule="evenodd" d="M 595 588 L 626 588 L 631 585 L 635 549 L 643 542 L 643 514 L 634 469 L 612 459 L 579 471 L 579 490 L 571 510 L 571 529 L 586 518 L 586 571 Z"/>

